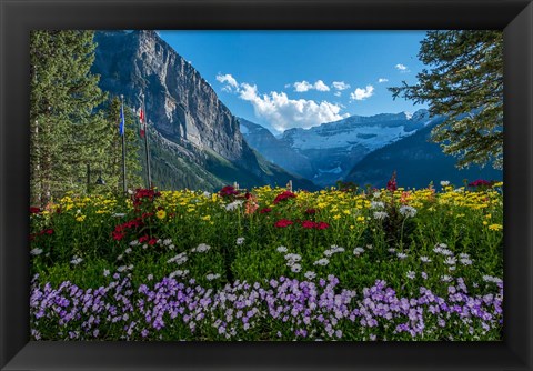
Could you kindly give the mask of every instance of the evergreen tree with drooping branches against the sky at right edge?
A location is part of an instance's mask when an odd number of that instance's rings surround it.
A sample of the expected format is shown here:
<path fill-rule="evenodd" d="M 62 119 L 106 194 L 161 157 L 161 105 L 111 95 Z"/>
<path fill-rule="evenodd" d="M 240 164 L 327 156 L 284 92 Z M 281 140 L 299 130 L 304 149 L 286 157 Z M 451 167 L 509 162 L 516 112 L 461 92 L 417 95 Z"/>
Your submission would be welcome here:
<path fill-rule="evenodd" d="M 421 42 L 419 82 L 389 88 L 415 103 L 428 102 L 432 114 L 447 120 L 432 140 L 457 167 L 503 164 L 503 33 L 486 30 L 429 31 Z"/>

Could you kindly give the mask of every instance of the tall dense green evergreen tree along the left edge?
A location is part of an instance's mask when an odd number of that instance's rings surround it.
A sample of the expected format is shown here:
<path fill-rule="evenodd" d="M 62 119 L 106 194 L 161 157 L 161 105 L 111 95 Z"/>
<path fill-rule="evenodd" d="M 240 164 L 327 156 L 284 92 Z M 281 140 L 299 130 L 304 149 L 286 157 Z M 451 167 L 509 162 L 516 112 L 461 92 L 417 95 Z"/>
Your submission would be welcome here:
<path fill-rule="evenodd" d="M 87 164 L 100 161 L 105 99 L 94 60 L 93 31 L 30 33 L 30 191 L 46 204 L 67 190 L 83 190 Z"/>

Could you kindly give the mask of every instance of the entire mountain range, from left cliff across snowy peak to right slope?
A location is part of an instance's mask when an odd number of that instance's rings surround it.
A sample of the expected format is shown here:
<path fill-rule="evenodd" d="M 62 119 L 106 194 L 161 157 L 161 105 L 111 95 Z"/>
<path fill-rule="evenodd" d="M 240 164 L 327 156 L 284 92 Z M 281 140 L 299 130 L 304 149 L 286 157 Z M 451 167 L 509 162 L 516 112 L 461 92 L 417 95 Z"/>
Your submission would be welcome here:
<path fill-rule="evenodd" d="M 502 179 L 502 172 L 459 171 L 455 159 L 428 141 L 444 118 L 428 110 L 352 116 L 275 137 L 237 118 L 211 86 L 154 31 L 98 31 L 92 72 L 100 88 L 134 109 L 144 94 L 153 183 L 160 189 L 215 190 L 284 187 L 316 190 L 336 181 L 383 187 L 394 170 L 400 184 Z M 145 164 L 143 164 L 145 166 Z"/>

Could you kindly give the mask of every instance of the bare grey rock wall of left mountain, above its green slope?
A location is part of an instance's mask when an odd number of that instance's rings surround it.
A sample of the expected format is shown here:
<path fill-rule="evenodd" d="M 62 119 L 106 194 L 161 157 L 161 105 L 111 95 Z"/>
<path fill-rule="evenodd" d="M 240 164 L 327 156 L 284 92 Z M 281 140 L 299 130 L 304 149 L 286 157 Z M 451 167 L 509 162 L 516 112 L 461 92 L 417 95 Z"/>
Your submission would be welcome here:
<path fill-rule="evenodd" d="M 94 71 L 100 86 L 123 93 L 128 106 L 140 107 L 164 137 L 211 149 L 240 160 L 239 123 L 200 73 L 154 31 L 97 32 Z"/>

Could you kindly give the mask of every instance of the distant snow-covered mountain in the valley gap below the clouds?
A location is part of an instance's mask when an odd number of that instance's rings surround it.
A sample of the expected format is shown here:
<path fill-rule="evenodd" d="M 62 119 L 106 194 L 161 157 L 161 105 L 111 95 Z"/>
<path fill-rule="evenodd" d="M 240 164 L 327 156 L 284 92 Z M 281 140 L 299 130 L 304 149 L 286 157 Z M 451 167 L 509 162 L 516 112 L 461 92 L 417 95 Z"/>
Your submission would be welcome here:
<path fill-rule="evenodd" d="M 433 120 L 428 110 L 352 116 L 310 129 L 290 129 L 280 138 L 248 120 L 240 119 L 240 123 L 250 147 L 275 164 L 324 187 L 344 179 L 370 152 L 415 133 Z"/>

